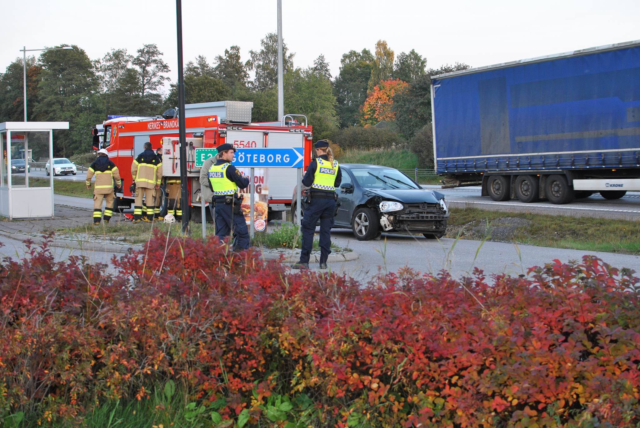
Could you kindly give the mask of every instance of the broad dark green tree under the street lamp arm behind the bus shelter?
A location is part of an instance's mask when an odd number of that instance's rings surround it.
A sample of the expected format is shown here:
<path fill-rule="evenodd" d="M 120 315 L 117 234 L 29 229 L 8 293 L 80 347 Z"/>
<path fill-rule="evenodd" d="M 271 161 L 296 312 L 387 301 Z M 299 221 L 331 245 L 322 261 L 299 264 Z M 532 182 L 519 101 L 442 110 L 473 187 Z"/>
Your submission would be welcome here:
<path fill-rule="evenodd" d="M 42 79 L 34 113 L 38 120 L 70 122 L 68 131 L 56 132 L 54 153 L 70 156 L 90 144 L 90 130 L 104 119 L 97 93 L 97 63 L 83 49 L 44 51 L 40 55 Z"/>

